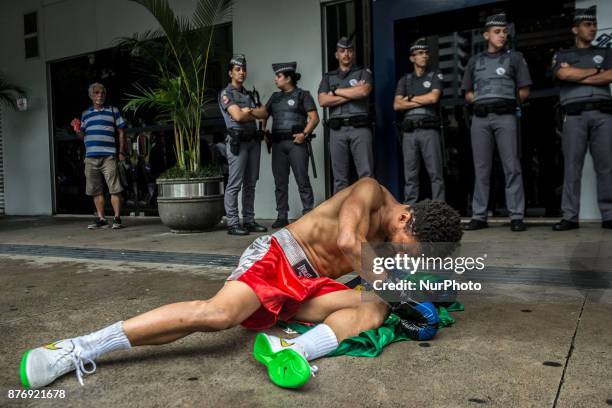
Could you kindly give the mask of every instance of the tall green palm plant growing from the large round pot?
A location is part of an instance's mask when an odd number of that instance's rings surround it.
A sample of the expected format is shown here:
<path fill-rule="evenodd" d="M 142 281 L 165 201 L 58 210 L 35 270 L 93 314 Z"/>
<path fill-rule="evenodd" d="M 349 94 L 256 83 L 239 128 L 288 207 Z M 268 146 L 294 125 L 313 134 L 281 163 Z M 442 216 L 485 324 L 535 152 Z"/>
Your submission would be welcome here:
<path fill-rule="evenodd" d="M 125 109 L 153 109 L 158 120 L 172 123 L 178 167 L 197 172 L 204 108 L 215 100 L 205 86 L 215 26 L 230 18 L 233 0 L 198 0 L 191 18 L 177 16 L 168 0 L 130 1 L 145 7 L 160 29 L 119 40 L 144 64 L 157 67 L 149 78 L 155 85 L 136 84 Z"/>

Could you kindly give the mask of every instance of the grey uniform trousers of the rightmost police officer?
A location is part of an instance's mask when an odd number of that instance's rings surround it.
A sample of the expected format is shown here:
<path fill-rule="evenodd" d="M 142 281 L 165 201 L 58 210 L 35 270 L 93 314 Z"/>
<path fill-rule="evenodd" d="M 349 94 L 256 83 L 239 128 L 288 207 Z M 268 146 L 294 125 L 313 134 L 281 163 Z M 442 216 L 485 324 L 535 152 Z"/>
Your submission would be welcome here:
<path fill-rule="evenodd" d="M 612 220 L 612 114 L 598 110 L 565 115 L 562 133 L 563 218 L 578 221 L 580 181 L 587 146 L 597 175 L 597 201 L 603 221 Z"/>

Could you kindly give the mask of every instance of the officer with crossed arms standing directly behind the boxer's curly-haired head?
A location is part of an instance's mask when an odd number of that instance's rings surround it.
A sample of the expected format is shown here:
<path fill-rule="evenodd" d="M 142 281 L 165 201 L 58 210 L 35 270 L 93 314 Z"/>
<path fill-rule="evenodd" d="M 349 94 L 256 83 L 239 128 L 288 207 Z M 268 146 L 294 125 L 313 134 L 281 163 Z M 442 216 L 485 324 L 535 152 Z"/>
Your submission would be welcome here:
<path fill-rule="evenodd" d="M 398 81 L 393 101 L 393 109 L 404 112 L 400 125 L 404 153 L 404 202 L 415 204 L 419 197 L 421 155 L 431 180 L 432 198 L 444 201 L 438 114 L 444 77 L 440 71 L 428 69 L 429 47 L 425 38 L 419 38 L 410 47 L 410 62 L 414 71 Z"/>

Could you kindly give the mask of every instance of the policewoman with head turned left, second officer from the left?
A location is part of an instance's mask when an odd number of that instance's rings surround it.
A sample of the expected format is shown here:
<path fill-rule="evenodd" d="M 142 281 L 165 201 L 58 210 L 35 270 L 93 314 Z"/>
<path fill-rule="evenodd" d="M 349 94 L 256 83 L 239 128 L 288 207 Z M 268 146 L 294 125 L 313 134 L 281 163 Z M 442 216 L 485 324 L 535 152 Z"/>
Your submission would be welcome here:
<path fill-rule="evenodd" d="M 296 67 L 295 62 L 272 64 L 274 82 L 280 91 L 274 92 L 266 103 L 268 115 L 274 118 L 270 141 L 278 216 L 272 228 L 289 224 L 289 167 L 300 192 L 302 213 L 306 214 L 314 205 L 307 143 L 319 124 L 319 114 L 310 93 L 297 87 L 300 74 L 295 72 Z"/>

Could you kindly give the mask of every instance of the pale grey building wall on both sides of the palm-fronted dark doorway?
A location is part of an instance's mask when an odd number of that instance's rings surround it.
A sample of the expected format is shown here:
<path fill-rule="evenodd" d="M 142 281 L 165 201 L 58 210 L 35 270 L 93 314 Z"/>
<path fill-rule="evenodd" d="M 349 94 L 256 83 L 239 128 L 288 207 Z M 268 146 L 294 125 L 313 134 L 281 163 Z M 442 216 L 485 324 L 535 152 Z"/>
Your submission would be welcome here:
<path fill-rule="evenodd" d="M 171 0 L 174 9 L 189 15 L 195 0 Z M 249 86 L 262 97 L 274 90 L 270 63 L 297 60 L 304 73 L 302 86 L 316 91 L 321 73 L 318 0 L 248 1 L 234 7 L 234 49 L 247 54 Z M 270 18 L 274 10 L 274 18 Z M 38 11 L 40 57 L 25 60 L 23 14 Z M 307 16 L 307 18 L 304 18 Z M 52 146 L 50 143 L 48 61 L 111 47 L 118 37 L 156 28 L 141 6 L 126 0 L 24 0 L 0 4 L 0 69 L 29 90 L 27 112 L 3 112 L 6 213 L 51 214 Z M 85 92 L 85 90 L 84 90 Z M 323 169 L 322 137 L 314 143 L 317 164 Z M 262 149 L 256 209 L 259 218 L 276 216 L 270 156 Z M 313 180 L 317 202 L 324 198 L 324 182 Z M 295 182 L 290 187 L 290 216 L 301 212 Z"/>

